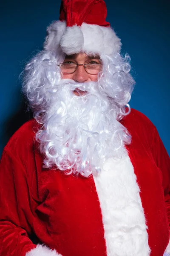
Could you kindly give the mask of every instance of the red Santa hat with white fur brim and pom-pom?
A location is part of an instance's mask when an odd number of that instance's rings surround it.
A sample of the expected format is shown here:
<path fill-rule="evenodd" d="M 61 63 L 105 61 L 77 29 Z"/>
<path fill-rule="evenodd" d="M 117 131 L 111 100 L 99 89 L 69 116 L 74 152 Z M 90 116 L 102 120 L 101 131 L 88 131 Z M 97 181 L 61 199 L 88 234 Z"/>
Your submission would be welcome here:
<path fill-rule="evenodd" d="M 105 19 L 104 0 L 62 0 L 60 16 L 48 28 L 44 48 L 66 54 L 116 55 L 121 42 Z"/>

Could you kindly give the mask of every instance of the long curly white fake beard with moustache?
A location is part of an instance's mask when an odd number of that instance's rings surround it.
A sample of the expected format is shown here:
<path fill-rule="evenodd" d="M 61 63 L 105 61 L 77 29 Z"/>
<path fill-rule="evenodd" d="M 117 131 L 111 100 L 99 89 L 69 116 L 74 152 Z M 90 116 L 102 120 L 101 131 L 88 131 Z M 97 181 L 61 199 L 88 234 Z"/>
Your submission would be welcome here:
<path fill-rule="evenodd" d="M 74 95 L 77 87 L 87 93 Z M 36 134 L 46 156 L 45 167 L 88 177 L 99 173 L 109 157 L 121 159 L 127 154 L 125 143 L 131 137 L 118 121 L 120 108 L 112 98 L 100 94 L 98 87 L 98 82 L 78 84 L 63 79 L 51 96 L 43 127 Z"/>

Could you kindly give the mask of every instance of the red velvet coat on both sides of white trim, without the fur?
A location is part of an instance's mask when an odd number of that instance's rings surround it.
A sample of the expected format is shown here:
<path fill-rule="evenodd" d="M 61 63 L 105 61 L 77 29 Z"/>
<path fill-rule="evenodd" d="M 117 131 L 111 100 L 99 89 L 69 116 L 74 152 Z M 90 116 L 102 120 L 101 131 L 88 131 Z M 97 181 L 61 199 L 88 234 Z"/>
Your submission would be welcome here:
<path fill-rule="evenodd" d="M 169 241 L 170 159 L 155 126 L 132 110 L 122 123 L 141 193 L 151 256 L 163 256 Z M 0 255 L 25 256 L 40 242 L 62 256 L 106 256 L 102 213 L 93 177 L 42 168 L 34 140 L 35 120 L 25 123 L 4 148 L 0 163 Z M 167 207 L 166 207 L 167 206 Z"/>

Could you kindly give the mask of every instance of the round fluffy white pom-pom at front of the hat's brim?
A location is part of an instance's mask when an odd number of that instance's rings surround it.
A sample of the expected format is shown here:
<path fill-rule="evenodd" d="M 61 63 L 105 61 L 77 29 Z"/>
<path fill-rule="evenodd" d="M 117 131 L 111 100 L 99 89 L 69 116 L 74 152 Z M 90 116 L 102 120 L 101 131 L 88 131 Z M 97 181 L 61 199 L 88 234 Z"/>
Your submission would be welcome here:
<path fill-rule="evenodd" d="M 60 46 L 66 54 L 81 52 L 84 46 L 84 37 L 79 26 L 67 27 L 65 34 L 62 36 Z"/>

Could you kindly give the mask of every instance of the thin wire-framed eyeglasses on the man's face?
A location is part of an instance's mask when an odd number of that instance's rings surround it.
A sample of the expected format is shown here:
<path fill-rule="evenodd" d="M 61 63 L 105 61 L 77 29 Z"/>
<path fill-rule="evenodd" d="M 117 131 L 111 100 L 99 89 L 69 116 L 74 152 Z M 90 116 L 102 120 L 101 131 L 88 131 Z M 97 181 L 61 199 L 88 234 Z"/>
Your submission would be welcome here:
<path fill-rule="evenodd" d="M 102 68 L 102 64 L 76 64 L 76 63 L 60 63 L 57 64 L 63 74 L 73 74 L 78 66 L 84 66 L 85 71 L 90 75 L 97 75 Z"/>

